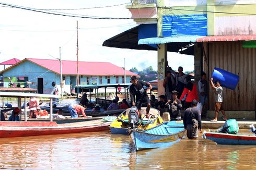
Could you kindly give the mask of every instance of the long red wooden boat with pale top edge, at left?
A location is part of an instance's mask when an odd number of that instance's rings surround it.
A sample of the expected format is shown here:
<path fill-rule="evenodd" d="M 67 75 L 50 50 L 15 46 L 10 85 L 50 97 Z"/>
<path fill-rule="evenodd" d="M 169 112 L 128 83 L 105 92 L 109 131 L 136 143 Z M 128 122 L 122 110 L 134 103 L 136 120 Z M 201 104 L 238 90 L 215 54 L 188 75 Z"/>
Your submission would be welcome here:
<path fill-rule="evenodd" d="M 59 135 L 109 130 L 111 122 L 101 120 L 57 125 L 56 122 L 0 122 L 0 138 Z"/>

